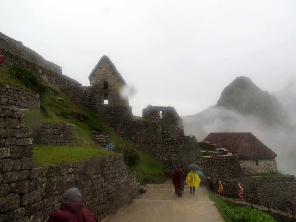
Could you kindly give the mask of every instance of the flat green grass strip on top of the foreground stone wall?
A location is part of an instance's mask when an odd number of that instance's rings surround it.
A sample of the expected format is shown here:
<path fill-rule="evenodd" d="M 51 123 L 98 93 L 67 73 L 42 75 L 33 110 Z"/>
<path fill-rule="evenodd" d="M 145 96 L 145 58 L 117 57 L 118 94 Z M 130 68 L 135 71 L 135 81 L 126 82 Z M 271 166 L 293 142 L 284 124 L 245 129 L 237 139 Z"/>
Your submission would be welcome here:
<path fill-rule="evenodd" d="M 52 145 L 34 145 L 33 152 L 33 161 L 35 167 L 79 162 L 94 156 L 106 156 L 111 154 L 111 152 L 107 152 L 103 149 L 92 149 L 81 146 Z"/>

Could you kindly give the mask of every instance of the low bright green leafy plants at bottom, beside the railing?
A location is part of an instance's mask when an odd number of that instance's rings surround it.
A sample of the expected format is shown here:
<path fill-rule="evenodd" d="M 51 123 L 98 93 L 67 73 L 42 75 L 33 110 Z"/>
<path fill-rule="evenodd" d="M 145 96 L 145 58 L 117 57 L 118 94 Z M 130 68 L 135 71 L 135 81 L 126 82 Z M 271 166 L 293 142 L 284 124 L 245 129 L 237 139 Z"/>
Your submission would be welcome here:
<path fill-rule="evenodd" d="M 224 207 L 223 210 L 234 222 L 276 222 L 271 215 L 251 207 Z"/>

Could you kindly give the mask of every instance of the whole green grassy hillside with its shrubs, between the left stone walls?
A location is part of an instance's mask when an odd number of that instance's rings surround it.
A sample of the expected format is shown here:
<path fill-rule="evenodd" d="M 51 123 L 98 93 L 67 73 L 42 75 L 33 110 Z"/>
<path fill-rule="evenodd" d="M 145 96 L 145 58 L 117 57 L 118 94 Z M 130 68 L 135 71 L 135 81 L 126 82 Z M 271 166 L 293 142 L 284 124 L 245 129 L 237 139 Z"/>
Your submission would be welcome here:
<path fill-rule="evenodd" d="M 116 136 L 116 133 L 94 112 L 75 104 L 59 89 L 39 80 L 33 71 L 16 65 L 6 70 L 1 68 L 0 83 L 40 94 L 40 110 L 27 112 L 25 115 L 27 126 L 34 127 L 45 121 L 74 124 L 77 146 L 34 145 L 35 167 L 61 165 L 114 153 L 105 151 L 104 147 L 93 143 L 91 131 L 95 130 L 110 134 L 111 140 L 117 147 L 115 150 L 123 153 L 125 164 L 129 170 L 136 170 L 140 182 L 160 183 L 164 180 L 166 171 L 163 163 L 141 152 L 140 147 Z"/>

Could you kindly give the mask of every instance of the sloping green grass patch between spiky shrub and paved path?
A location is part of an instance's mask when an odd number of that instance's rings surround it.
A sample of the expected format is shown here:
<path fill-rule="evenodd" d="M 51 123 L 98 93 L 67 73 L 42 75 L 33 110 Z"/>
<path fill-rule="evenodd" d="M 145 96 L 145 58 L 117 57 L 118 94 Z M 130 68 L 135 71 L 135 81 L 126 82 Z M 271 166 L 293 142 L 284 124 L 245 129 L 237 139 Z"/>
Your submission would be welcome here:
<path fill-rule="evenodd" d="M 144 183 L 161 183 L 166 178 L 165 165 L 164 163 L 156 160 L 154 157 L 142 153 L 141 162 L 134 167 L 138 181 Z"/>

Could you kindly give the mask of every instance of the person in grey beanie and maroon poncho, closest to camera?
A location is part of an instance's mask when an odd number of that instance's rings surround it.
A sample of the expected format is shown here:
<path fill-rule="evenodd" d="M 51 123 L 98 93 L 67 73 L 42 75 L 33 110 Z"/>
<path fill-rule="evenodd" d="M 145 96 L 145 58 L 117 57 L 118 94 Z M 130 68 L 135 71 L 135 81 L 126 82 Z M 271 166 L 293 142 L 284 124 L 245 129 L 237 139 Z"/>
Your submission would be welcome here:
<path fill-rule="evenodd" d="M 66 191 L 59 210 L 54 211 L 47 222 L 98 222 L 96 217 L 84 208 L 81 193 L 76 187 Z"/>

